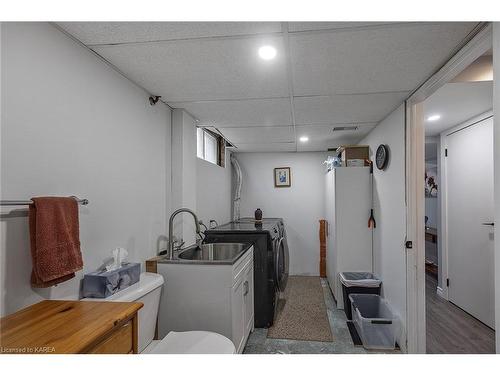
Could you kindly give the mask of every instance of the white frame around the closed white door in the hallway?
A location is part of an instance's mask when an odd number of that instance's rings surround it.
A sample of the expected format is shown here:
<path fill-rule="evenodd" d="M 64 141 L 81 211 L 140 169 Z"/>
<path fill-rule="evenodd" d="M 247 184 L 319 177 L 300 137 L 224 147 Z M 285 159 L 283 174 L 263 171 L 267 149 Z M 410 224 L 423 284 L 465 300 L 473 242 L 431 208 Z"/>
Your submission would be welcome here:
<path fill-rule="evenodd" d="M 441 241 L 441 264 L 439 265 L 439 273 L 441 275 L 441 280 L 442 280 L 442 285 L 441 287 L 438 287 L 438 294 L 446 299 L 449 300 L 449 291 L 448 291 L 448 286 L 446 284 L 446 279 L 448 279 L 449 276 L 449 270 L 448 270 L 448 256 L 449 256 L 449 250 L 448 250 L 448 199 L 447 199 L 447 186 L 448 186 L 448 179 L 447 179 L 447 165 L 446 165 L 446 158 L 445 158 L 445 149 L 448 148 L 448 136 L 456 133 L 462 129 L 468 128 L 469 126 L 475 125 L 479 122 L 485 121 L 489 118 L 493 117 L 493 109 L 486 111 L 484 113 L 481 113 L 480 115 L 477 115 L 461 124 L 458 124 L 457 126 L 454 126 L 453 128 L 450 128 L 448 130 L 445 130 L 440 134 L 440 144 L 441 144 L 441 149 L 440 149 L 440 171 L 439 171 L 439 179 L 440 179 L 440 184 L 441 187 L 440 189 L 440 196 L 441 196 L 441 202 L 439 205 L 439 209 L 441 211 L 441 219 L 440 219 L 440 226 L 441 230 L 438 236 L 438 241 Z"/>

